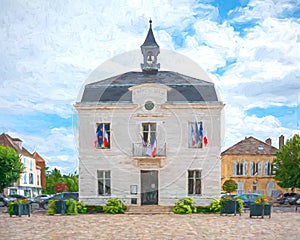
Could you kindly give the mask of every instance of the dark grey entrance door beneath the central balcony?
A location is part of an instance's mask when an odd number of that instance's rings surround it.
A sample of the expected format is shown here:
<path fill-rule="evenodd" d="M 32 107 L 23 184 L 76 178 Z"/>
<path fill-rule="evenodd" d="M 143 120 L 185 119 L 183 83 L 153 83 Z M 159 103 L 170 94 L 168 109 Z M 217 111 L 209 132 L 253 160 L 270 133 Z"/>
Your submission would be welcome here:
<path fill-rule="evenodd" d="M 158 204 L 158 171 L 141 171 L 142 205 Z"/>

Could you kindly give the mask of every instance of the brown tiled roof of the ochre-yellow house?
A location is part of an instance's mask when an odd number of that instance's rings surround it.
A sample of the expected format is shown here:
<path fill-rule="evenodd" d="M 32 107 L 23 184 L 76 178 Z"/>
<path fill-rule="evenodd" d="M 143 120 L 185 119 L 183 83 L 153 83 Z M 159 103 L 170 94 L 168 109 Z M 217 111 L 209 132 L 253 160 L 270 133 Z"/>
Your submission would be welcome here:
<path fill-rule="evenodd" d="M 260 141 L 254 137 L 246 137 L 244 140 L 236 143 L 221 153 L 224 155 L 276 155 L 277 148 Z"/>

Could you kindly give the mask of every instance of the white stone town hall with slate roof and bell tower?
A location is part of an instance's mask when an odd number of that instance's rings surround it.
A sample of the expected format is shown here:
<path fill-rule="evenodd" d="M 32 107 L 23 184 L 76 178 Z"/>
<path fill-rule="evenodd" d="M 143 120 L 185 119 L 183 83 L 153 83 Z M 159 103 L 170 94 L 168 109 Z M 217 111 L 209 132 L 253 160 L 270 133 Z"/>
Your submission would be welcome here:
<path fill-rule="evenodd" d="M 213 83 L 158 71 L 151 21 L 141 50 L 141 72 L 98 78 L 74 105 L 80 200 L 173 205 L 193 197 L 208 205 L 220 195 L 224 104 Z"/>

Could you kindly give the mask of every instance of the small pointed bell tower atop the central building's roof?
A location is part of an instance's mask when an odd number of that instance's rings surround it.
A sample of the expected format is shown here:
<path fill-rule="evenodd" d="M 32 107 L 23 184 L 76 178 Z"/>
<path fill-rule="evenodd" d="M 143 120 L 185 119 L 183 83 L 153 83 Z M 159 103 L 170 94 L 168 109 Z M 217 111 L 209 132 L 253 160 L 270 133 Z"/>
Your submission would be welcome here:
<path fill-rule="evenodd" d="M 143 72 L 157 72 L 160 68 L 160 64 L 157 63 L 157 56 L 159 54 L 159 46 L 155 41 L 152 32 L 152 20 L 149 21 L 150 27 L 145 39 L 145 42 L 141 46 L 142 54 L 144 56 L 144 63 L 141 64 Z"/>

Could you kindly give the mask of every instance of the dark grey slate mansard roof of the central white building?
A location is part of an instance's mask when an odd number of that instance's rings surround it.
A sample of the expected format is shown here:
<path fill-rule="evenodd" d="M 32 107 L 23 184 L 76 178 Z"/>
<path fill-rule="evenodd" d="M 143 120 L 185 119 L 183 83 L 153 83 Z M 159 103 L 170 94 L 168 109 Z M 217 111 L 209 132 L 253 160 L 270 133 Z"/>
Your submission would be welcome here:
<path fill-rule="evenodd" d="M 132 102 L 130 87 L 156 83 L 171 88 L 167 101 L 218 102 L 214 84 L 172 71 L 126 72 L 85 86 L 81 103 Z"/>

